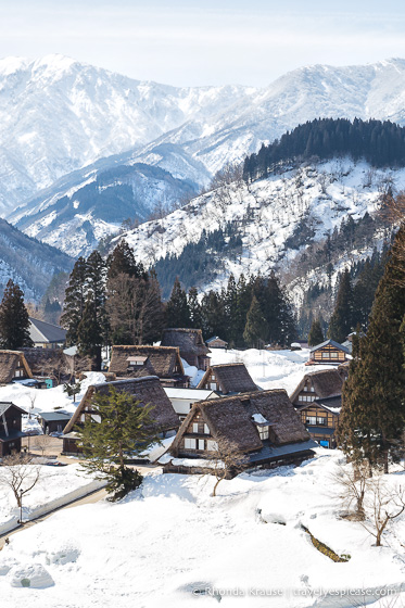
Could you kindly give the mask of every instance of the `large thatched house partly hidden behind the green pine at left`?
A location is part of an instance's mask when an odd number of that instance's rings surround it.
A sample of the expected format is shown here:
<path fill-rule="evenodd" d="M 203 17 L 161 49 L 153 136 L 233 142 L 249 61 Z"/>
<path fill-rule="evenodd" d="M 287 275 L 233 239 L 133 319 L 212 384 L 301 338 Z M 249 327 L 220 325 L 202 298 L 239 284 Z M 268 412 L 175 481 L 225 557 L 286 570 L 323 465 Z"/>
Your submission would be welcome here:
<path fill-rule="evenodd" d="M 140 402 L 139 407 L 143 405 L 153 405 L 151 416 L 156 421 L 159 432 L 165 434 L 167 431 L 177 430 L 180 426 L 179 417 L 173 408 L 170 400 L 167 397 L 163 390 L 161 382 L 156 376 L 147 376 L 144 378 L 128 378 L 126 380 L 116 380 L 114 382 L 100 382 L 92 384 L 85 393 L 77 409 L 68 423 L 66 425 L 63 433 L 63 452 L 72 453 L 78 452 L 77 441 L 75 440 L 74 427 L 80 426 L 85 422 L 86 417 L 91 417 L 94 423 L 100 421 L 98 410 L 92 405 L 92 397 L 94 394 L 107 394 L 110 389 L 118 392 L 126 392 L 134 395 Z"/>

